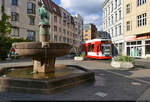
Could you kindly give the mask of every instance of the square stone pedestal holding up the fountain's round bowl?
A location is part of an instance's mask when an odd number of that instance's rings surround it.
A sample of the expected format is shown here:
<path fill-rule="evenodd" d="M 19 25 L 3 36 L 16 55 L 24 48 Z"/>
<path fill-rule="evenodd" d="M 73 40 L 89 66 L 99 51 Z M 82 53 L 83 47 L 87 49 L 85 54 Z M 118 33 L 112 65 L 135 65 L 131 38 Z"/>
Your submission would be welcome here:
<path fill-rule="evenodd" d="M 56 58 L 33 58 L 33 72 L 54 73 Z"/>

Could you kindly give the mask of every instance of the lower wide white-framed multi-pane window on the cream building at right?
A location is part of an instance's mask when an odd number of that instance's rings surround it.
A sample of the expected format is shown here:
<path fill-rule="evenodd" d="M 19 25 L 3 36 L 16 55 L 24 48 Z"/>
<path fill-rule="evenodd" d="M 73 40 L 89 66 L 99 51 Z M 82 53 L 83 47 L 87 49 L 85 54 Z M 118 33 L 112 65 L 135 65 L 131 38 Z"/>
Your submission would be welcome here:
<path fill-rule="evenodd" d="M 138 27 L 145 26 L 147 24 L 147 18 L 146 18 L 146 16 L 147 16 L 146 13 L 137 16 L 137 26 Z"/>

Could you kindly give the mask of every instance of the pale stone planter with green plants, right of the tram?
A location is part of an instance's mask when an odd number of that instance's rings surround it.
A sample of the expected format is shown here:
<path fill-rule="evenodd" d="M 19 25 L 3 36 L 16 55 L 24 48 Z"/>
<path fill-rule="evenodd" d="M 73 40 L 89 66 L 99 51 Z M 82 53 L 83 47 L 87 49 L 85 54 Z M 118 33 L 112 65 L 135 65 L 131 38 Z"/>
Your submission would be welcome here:
<path fill-rule="evenodd" d="M 135 65 L 135 59 L 128 56 L 118 56 L 113 58 L 111 66 L 114 68 L 133 68 Z"/>

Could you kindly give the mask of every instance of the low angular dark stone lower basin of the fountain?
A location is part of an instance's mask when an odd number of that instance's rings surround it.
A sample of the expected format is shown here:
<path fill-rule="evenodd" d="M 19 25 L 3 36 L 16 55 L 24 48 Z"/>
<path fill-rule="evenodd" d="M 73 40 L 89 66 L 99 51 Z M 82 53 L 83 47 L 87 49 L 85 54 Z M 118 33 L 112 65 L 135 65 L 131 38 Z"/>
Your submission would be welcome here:
<path fill-rule="evenodd" d="M 64 70 L 63 67 L 60 67 L 58 73 L 57 71 L 55 73 L 51 73 L 54 74 L 51 75 L 52 77 L 47 77 L 47 75 L 43 76 L 42 74 L 44 73 L 41 73 L 39 76 L 35 74 L 35 76 L 33 75 L 33 77 L 20 77 L 16 74 L 14 74 L 14 77 L 11 74 L 7 75 L 10 70 L 13 72 L 15 70 L 22 70 L 24 68 L 30 69 L 32 67 L 33 66 L 20 66 L 1 69 L 0 92 L 50 94 L 95 80 L 94 72 L 75 65 L 66 65 L 66 68 L 68 69 L 65 70 L 68 70 L 69 72 L 65 71 L 67 73 L 63 75 L 59 74 L 60 70 Z"/>

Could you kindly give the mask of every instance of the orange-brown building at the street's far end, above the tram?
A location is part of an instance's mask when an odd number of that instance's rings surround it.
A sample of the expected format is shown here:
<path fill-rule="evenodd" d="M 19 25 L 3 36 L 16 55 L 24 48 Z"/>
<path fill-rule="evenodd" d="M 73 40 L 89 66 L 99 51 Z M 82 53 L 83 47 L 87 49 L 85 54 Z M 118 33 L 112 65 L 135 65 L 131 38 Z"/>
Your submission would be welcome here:
<path fill-rule="evenodd" d="M 83 40 L 92 40 L 97 38 L 97 27 L 94 24 L 84 24 L 83 26 Z"/>

